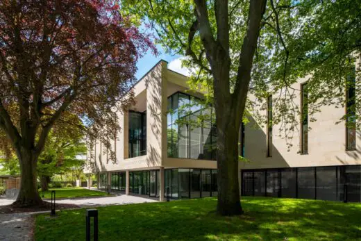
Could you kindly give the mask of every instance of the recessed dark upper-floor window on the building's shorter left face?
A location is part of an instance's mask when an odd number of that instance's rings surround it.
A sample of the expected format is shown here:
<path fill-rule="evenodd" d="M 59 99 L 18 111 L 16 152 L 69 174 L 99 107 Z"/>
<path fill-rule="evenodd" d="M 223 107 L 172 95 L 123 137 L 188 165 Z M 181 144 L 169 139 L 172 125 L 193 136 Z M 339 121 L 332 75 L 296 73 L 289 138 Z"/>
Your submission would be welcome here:
<path fill-rule="evenodd" d="M 146 154 L 146 113 L 129 112 L 129 158 Z"/>

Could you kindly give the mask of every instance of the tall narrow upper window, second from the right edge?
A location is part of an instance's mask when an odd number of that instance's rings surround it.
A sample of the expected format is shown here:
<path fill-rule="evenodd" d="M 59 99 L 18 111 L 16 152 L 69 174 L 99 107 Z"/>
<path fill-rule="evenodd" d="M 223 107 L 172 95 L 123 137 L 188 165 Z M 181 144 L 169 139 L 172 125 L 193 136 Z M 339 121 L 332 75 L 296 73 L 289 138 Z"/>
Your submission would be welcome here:
<path fill-rule="evenodd" d="M 308 85 L 301 85 L 301 153 L 308 154 Z"/>

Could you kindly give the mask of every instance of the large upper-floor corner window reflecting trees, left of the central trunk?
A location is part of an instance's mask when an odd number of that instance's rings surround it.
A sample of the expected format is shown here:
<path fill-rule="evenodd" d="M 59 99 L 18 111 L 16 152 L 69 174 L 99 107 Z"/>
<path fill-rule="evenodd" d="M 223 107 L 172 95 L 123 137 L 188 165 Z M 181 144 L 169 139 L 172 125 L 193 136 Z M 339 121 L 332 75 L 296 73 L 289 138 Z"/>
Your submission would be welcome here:
<path fill-rule="evenodd" d="M 177 92 L 168 98 L 167 156 L 215 160 L 217 142 L 213 108 Z"/>

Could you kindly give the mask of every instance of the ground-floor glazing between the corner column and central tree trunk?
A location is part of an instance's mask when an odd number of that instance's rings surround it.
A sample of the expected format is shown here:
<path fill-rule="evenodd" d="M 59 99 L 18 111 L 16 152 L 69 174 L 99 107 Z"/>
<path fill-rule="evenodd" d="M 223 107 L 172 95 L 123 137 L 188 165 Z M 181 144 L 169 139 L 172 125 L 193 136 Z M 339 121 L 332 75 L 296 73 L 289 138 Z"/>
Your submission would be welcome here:
<path fill-rule="evenodd" d="M 215 169 L 165 169 L 165 197 L 190 199 L 217 197 L 217 170 Z"/>

